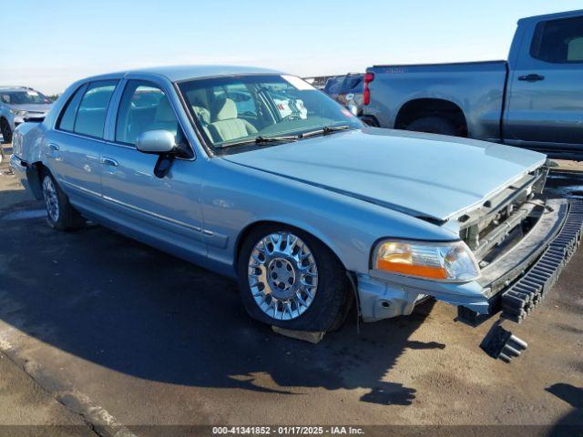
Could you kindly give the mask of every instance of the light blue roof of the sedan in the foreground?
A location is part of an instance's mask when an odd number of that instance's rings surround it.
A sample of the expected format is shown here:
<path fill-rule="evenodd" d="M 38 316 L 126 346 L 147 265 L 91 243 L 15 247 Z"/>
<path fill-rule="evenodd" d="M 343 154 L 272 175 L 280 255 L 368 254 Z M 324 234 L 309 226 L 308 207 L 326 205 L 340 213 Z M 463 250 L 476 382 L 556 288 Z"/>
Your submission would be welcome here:
<path fill-rule="evenodd" d="M 123 77 L 131 74 L 163 76 L 171 82 L 179 82 L 187 79 L 215 76 L 239 76 L 239 75 L 281 75 L 280 71 L 255 66 L 153 66 L 132 70 L 109 73 L 107 75 L 87 77 L 87 80 L 106 79 L 111 77 Z"/>

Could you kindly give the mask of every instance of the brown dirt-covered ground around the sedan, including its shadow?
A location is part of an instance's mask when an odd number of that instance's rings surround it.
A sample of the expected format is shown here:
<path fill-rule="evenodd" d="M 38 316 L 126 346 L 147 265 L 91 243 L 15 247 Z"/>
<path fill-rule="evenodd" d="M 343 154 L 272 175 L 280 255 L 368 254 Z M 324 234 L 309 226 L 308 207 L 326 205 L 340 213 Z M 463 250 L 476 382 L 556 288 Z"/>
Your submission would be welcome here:
<path fill-rule="evenodd" d="M 549 186 L 578 196 L 583 175 L 559 172 Z M 529 347 L 506 364 L 478 348 L 494 320 L 471 328 L 441 303 L 360 334 L 352 317 L 319 345 L 281 337 L 247 317 L 230 279 L 99 226 L 65 234 L 22 215 L 39 208 L 0 176 L 0 350 L 97 432 L 422 424 L 439 428 L 398 429 L 483 435 L 448 425 L 496 424 L 521 425 L 490 428 L 517 436 L 583 426 L 583 250 L 534 315 L 507 325 Z"/>

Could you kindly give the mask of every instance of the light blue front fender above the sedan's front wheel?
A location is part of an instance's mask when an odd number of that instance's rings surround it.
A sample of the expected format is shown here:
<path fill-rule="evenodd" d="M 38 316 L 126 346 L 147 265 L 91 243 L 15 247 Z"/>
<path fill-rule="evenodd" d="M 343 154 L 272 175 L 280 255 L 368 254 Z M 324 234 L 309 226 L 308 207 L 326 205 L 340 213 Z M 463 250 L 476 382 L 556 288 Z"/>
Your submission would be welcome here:
<path fill-rule="evenodd" d="M 201 202 L 205 228 L 227 236 L 227 248 L 209 257 L 232 267 L 241 232 L 264 221 L 303 229 L 320 239 L 346 269 L 365 273 L 381 238 L 451 241 L 455 234 L 434 224 L 325 188 L 282 178 L 221 158 L 208 162 Z"/>

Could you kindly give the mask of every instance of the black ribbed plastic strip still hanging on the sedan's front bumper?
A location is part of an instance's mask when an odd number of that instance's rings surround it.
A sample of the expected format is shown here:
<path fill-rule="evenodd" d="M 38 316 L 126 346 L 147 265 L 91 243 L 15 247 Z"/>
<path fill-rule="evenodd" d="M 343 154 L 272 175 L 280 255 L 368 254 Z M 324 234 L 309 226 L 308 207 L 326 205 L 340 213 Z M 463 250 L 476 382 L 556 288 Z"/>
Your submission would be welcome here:
<path fill-rule="evenodd" d="M 583 202 L 571 202 L 563 228 L 522 278 L 502 293 L 502 317 L 520 323 L 547 291 L 578 248 L 583 234 Z M 526 343 L 525 343 L 526 344 Z"/>

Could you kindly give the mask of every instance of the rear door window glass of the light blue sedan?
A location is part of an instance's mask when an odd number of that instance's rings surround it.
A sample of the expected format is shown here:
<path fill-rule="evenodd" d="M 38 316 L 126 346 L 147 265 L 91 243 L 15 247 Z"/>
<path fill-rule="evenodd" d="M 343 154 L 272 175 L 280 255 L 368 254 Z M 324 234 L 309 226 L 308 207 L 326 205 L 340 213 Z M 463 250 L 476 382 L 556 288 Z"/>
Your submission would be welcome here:
<path fill-rule="evenodd" d="M 107 106 L 116 89 L 117 81 L 104 80 L 87 86 L 75 118 L 73 131 L 89 137 L 103 137 Z"/>

